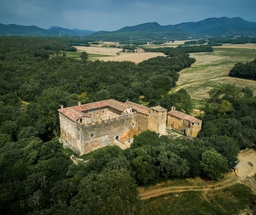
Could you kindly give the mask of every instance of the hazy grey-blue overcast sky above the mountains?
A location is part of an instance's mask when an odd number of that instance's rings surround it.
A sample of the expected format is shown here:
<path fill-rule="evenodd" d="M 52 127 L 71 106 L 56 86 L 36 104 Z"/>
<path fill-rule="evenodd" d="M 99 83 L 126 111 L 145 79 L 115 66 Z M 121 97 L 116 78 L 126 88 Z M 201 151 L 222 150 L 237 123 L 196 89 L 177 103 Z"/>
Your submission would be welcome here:
<path fill-rule="evenodd" d="M 174 25 L 212 17 L 256 22 L 256 0 L 0 0 L 0 23 L 114 31 L 147 22 Z"/>

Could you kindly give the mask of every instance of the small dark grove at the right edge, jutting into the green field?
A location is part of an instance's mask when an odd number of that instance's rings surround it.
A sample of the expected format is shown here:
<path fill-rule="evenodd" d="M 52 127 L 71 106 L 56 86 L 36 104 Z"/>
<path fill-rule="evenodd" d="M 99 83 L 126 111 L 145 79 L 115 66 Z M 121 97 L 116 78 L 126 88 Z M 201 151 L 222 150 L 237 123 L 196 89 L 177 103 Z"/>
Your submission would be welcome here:
<path fill-rule="evenodd" d="M 230 70 L 229 76 L 256 81 L 256 59 L 248 63 L 237 63 Z"/>

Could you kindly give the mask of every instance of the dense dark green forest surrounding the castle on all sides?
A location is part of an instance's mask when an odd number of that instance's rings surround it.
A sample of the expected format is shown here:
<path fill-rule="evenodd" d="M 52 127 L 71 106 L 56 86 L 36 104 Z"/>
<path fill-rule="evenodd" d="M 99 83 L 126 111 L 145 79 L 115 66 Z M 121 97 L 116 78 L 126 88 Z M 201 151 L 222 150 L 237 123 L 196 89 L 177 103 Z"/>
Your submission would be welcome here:
<path fill-rule="evenodd" d="M 126 150 L 107 146 L 75 165 L 58 141 L 60 105 L 112 98 L 190 113 L 189 94 L 169 90 L 195 59 L 177 48 L 139 64 L 77 60 L 66 56 L 75 51 L 69 42 L 51 38 L 1 37 L 0 45 L 0 214 L 140 214 L 138 186 L 216 180 L 240 149 L 255 147 L 256 98 L 223 85 L 209 91 L 197 139 L 145 131 Z"/>

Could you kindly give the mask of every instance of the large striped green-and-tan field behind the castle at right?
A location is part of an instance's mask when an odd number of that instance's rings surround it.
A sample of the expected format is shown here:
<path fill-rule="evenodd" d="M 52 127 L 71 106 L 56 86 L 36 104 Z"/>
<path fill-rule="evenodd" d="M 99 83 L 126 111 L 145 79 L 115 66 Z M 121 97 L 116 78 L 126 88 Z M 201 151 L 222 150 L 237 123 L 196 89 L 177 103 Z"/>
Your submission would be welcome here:
<path fill-rule="evenodd" d="M 255 81 L 228 76 L 230 69 L 236 63 L 249 62 L 256 58 L 254 44 L 244 47 L 242 45 L 214 47 L 213 52 L 193 53 L 190 56 L 195 58 L 196 62 L 180 72 L 177 87 L 172 92 L 184 88 L 192 99 L 204 100 L 208 98 L 208 91 L 213 87 L 234 83 L 240 87 L 250 87 L 256 95 Z"/>

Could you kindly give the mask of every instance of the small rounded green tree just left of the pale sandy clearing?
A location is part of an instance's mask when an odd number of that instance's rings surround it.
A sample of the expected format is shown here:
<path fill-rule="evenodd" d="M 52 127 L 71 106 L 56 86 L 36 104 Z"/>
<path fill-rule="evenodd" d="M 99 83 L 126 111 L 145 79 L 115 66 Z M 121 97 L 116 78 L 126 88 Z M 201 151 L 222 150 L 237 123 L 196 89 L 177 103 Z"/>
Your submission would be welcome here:
<path fill-rule="evenodd" d="M 201 167 L 207 177 L 216 180 L 228 172 L 228 161 L 215 149 L 210 149 L 202 154 Z"/>

